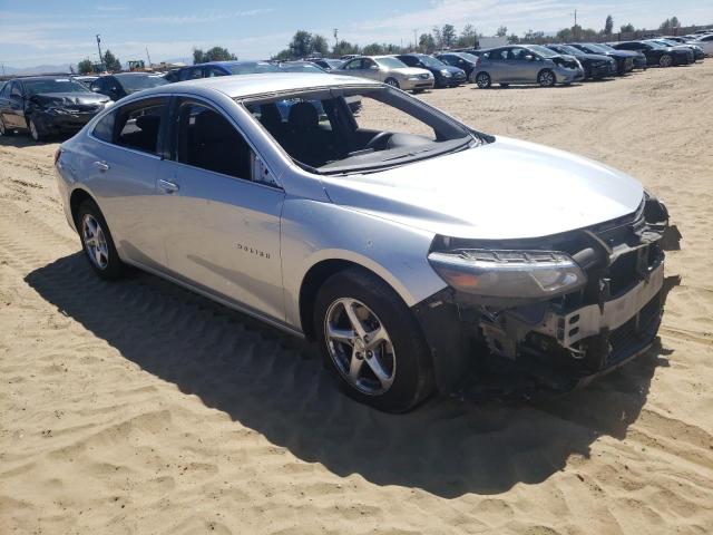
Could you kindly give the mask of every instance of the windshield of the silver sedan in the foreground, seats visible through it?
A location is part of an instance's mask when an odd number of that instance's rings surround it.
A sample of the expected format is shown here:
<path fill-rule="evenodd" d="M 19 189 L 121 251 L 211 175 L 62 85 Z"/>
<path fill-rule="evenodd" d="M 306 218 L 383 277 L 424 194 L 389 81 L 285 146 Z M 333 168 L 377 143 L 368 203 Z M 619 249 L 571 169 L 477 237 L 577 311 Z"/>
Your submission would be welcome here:
<path fill-rule="evenodd" d="M 244 104 L 299 165 L 319 174 L 394 167 L 480 142 L 447 115 L 384 87 L 291 91 Z"/>

